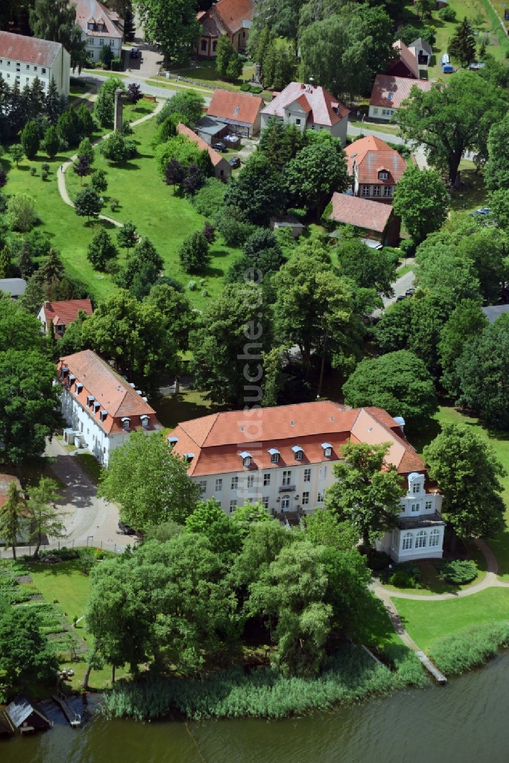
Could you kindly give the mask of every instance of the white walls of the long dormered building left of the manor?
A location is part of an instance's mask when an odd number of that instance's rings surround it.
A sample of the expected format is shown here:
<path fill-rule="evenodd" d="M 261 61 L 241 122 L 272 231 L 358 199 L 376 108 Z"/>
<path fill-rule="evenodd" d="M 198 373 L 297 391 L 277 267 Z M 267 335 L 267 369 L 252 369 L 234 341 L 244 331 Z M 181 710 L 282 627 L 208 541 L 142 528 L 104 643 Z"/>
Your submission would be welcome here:
<path fill-rule="evenodd" d="M 92 416 L 90 411 L 82 407 L 72 391 L 62 389 L 62 415 L 69 427 L 78 435 L 82 446 L 89 449 L 93 456 L 103 466 L 108 466 L 110 454 L 119 445 L 129 439 L 130 430 L 125 432 L 108 434 Z"/>

